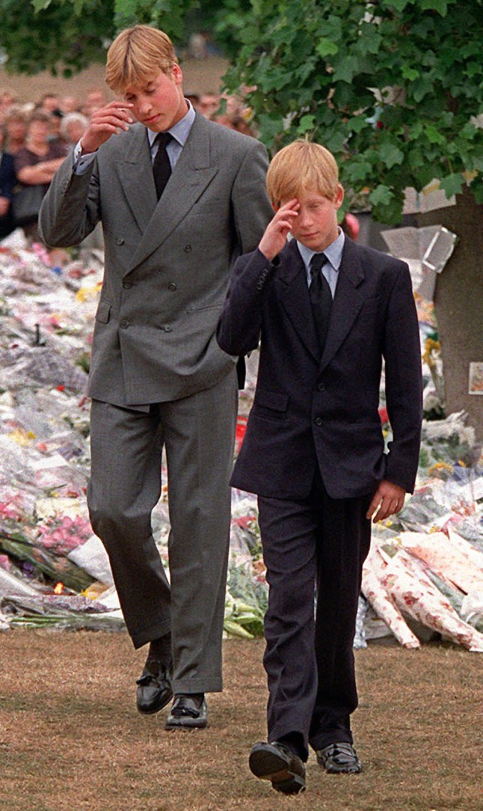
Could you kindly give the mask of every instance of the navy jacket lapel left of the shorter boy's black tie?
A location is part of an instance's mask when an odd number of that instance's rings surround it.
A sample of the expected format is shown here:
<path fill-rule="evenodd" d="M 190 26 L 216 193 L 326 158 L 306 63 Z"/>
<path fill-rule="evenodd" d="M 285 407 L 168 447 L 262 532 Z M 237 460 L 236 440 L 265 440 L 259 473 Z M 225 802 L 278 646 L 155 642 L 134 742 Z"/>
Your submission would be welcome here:
<path fill-rule="evenodd" d="M 280 254 L 280 271 L 276 272 L 276 285 L 281 306 L 297 330 L 301 341 L 318 360 L 318 341 L 314 316 L 310 309 L 306 266 L 292 239 Z"/>

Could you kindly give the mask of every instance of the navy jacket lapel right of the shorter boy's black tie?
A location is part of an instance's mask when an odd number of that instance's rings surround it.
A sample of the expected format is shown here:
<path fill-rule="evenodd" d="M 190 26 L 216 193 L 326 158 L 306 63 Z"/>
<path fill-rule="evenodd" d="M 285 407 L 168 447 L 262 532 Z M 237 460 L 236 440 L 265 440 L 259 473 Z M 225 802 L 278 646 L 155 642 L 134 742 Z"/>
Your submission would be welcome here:
<path fill-rule="evenodd" d="M 331 310 L 331 320 L 323 358 L 321 371 L 339 350 L 340 345 L 353 327 L 353 323 L 364 302 L 364 296 L 357 290 L 364 280 L 364 269 L 354 243 L 345 238 L 342 261 L 339 268 L 336 295 Z"/>

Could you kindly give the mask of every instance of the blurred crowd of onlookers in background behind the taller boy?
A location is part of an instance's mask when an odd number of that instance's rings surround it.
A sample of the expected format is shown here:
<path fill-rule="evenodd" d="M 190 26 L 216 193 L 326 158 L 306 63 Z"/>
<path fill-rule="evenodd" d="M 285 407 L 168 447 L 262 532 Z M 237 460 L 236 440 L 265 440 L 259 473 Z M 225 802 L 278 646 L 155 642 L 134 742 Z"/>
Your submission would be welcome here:
<path fill-rule="evenodd" d="M 215 91 L 187 92 L 186 97 L 204 118 L 255 135 L 250 108 L 242 97 Z M 19 226 L 29 241 L 39 238 L 37 215 L 42 195 L 86 131 L 92 114 L 107 103 L 102 88 L 92 88 L 83 98 L 45 92 L 36 102 L 25 102 L 9 89 L 0 89 L 0 239 Z"/>

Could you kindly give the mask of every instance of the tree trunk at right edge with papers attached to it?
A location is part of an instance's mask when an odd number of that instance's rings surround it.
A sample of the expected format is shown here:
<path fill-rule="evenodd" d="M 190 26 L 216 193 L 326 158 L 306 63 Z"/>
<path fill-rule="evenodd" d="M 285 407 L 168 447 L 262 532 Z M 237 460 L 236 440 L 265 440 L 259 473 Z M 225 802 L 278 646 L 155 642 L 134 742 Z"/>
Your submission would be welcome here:
<path fill-rule="evenodd" d="M 468 189 L 456 205 L 417 215 L 417 225 L 444 225 L 459 238 L 438 275 L 434 307 L 441 342 L 446 413 L 464 410 L 483 440 L 483 393 L 469 394 L 469 364 L 483 367 L 483 205 Z"/>

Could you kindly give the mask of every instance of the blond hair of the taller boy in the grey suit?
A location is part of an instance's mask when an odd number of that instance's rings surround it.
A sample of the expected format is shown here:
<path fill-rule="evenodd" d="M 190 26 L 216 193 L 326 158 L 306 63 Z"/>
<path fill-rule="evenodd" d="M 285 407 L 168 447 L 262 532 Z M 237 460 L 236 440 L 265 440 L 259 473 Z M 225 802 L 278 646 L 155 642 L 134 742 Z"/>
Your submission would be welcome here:
<path fill-rule="evenodd" d="M 105 81 L 116 93 L 130 84 L 149 81 L 160 71 L 169 74 L 177 64 L 169 36 L 150 25 L 135 25 L 122 31 L 107 54 Z"/>

